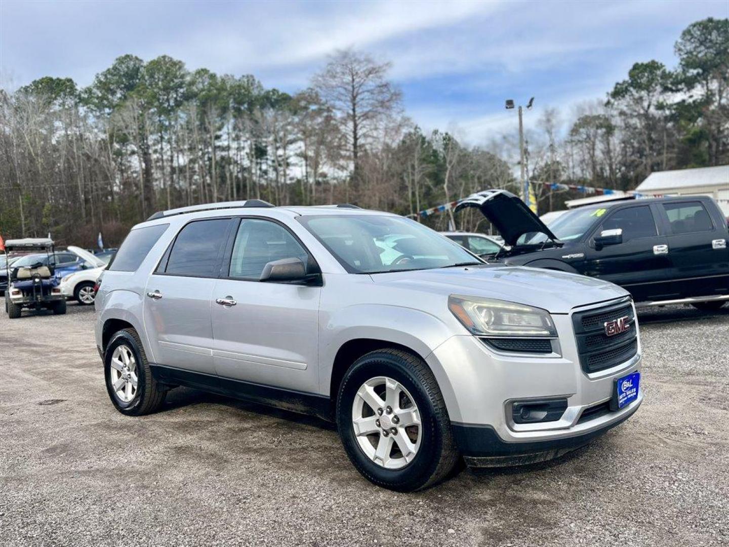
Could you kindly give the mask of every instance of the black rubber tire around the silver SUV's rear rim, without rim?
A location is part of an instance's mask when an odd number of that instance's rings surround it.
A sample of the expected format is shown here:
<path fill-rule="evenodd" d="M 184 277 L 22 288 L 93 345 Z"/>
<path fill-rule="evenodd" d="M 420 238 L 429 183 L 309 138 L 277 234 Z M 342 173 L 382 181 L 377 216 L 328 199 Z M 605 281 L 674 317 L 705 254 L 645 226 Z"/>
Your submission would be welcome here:
<path fill-rule="evenodd" d="M 112 354 L 114 349 L 121 345 L 127 346 L 134 355 L 137 362 L 137 390 L 129 402 L 125 403 L 117 397 L 112 388 Z M 127 416 L 143 416 L 144 414 L 152 414 L 156 412 L 165 401 L 167 390 L 152 376 L 152 369 L 149 368 L 147 354 L 144 353 L 144 347 L 141 345 L 139 334 L 133 328 L 123 329 L 114 333 L 104 352 L 104 381 L 106 383 L 106 392 L 112 404 L 122 414 Z"/>

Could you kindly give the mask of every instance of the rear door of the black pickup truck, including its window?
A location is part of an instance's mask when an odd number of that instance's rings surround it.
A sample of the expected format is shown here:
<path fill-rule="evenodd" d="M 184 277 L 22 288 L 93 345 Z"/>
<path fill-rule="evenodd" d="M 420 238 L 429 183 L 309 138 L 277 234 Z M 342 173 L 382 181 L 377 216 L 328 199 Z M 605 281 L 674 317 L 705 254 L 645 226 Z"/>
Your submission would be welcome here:
<path fill-rule="evenodd" d="M 727 229 L 710 214 L 712 205 L 695 198 L 659 205 L 668 225 L 674 290 L 682 298 L 729 294 Z"/>

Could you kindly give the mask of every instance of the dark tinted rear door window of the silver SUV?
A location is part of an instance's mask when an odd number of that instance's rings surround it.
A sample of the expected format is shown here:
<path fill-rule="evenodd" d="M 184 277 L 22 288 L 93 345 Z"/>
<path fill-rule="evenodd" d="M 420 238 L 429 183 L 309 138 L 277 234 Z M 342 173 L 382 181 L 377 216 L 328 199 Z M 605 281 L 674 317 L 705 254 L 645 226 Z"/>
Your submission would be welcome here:
<path fill-rule="evenodd" d="M 197 220 L 182 228 L 172 246 L 165 274 L 214 277 L 225 247 L 230 219 Z"/>

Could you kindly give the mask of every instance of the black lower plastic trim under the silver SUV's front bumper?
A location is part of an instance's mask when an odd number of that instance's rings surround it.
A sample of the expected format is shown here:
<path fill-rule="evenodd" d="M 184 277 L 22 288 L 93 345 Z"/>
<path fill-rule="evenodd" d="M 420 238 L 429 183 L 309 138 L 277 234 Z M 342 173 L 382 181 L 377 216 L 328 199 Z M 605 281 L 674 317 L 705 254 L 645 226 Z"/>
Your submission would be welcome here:
<path fill-rule="evenodd" d="M 452 424 L 451 427 L 453 427 L 453 437 L 456 440 L 456 445 L 464 457 L 520 457 L 580 448 L 580 446 L 584 446 L 594 438 L 612 429 L 612 427 L 622 424 L 634 412 L 635 409 L 615 422 L 581 435 L 523 443 L 502 440 L 491 425 Z"/>

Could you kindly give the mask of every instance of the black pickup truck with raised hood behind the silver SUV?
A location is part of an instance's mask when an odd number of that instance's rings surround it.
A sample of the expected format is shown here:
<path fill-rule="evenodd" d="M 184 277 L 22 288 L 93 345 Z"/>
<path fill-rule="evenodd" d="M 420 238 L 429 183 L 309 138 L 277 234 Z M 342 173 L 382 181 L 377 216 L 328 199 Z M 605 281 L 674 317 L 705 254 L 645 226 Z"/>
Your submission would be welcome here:
<path fill-rule="evenodd" d="M 461 201 L 477 207 L 507 246 L 486 257 L 599 277 L 631 292 L 637 305 L 729 302 L 729 230 L 712 198 L 683 196 L 582 206 L 547 226 L 520 198 L 486 190 Z"/>

